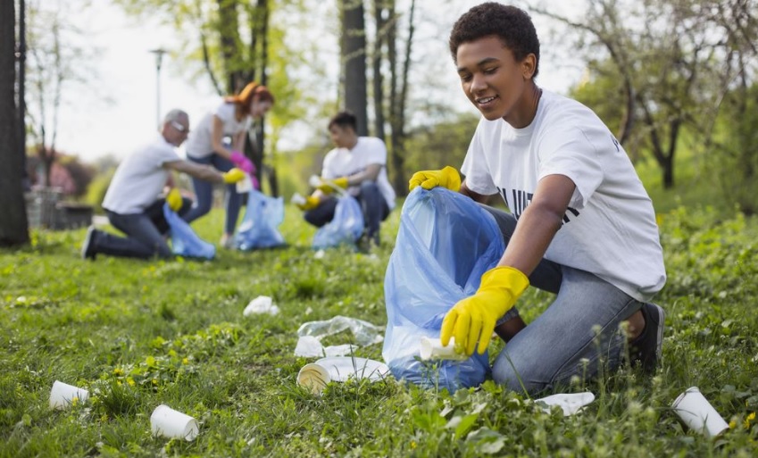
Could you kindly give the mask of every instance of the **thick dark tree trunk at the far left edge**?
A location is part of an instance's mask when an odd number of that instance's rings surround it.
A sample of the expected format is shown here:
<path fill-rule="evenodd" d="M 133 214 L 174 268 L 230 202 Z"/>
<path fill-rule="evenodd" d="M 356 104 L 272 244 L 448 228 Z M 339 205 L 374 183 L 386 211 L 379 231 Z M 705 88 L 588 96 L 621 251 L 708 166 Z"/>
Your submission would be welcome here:
<path fill-rule="evenodd" d="M 29 243 L 29 223 L 23 195 L 23 154 L 18 146 L 19 121 L 15 101 L 15 2 L 0 2 L 0 246 Z"/>

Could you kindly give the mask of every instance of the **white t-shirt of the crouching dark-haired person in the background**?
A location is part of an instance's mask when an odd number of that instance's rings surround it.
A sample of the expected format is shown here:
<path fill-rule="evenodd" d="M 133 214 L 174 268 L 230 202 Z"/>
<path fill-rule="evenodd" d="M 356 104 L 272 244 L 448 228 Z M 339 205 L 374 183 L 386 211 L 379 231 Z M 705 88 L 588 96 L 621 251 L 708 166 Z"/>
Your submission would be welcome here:
<path fill-rule="evenodd" d="M 377 186 L 390 210 L 395 208 L 395 189 L 387 179 L 387 148 L 384 142 L 376 137 L 358 137 L 358 143 L 353 149 L 334 148 L 324 157 L 321 175 L 326 179 L 346 177 L 366 170 L 371 164 L 380 164 L 381 170 L 377 177 Z M 347 188 L 353 196 L 357 196 L 360 187 Z"/>

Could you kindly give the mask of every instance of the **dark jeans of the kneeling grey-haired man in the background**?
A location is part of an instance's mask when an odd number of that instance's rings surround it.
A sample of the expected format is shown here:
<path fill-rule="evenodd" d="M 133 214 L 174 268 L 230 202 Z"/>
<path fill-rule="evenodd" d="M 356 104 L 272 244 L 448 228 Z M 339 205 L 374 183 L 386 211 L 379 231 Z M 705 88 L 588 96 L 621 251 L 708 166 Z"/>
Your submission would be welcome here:
<path fill-rule="evenodd" d="M 188 212 L 192 206 L 191 200 L 185 198 L 182 201 L 179 214 Z M 152 258 L 155 255 L 162 258 L 171 257 L 171 248 L 165 239 L 169 232 L 169 224 L 163 217 L 165 202 L 165 199 L 158 199 L 142 213 L 121 214 L 106 211 L 112 226 L 121 230 L 127 237 L 98 230 L 93 240 L 95 253 L 140 259 Z"/>

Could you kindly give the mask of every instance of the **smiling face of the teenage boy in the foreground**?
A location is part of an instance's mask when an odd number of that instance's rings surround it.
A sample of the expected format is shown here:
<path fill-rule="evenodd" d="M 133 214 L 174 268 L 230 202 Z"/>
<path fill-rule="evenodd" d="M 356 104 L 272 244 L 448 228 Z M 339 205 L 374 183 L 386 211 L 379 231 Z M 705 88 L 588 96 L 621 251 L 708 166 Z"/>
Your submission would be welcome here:
<path fill-rule="evenodd" d="M 531 123 L 537 110 L 534 54 L 519 62 L 493 35 L 462 43 L 455 62 L 463 93 L 487 120 L 502 118 L 517 129 Z"/>

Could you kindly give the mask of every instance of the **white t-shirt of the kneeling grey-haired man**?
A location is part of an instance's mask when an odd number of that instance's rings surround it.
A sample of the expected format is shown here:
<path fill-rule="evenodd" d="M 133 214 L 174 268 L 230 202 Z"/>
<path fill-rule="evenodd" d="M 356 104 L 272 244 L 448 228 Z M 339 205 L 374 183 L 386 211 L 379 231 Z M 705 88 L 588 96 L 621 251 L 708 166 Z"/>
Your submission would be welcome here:
<path fill-rule="evenodd" d="M 139 148 L 116 169 L 103 208 L 120 214 L 144 212 L 158 199 L 166 184 L 169 171 L 163 164 L 175 161 L 181 161 L 176 147 L 163 136 Z"/>

